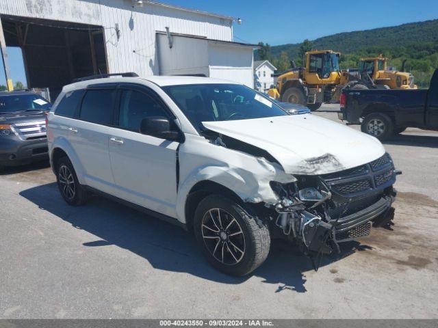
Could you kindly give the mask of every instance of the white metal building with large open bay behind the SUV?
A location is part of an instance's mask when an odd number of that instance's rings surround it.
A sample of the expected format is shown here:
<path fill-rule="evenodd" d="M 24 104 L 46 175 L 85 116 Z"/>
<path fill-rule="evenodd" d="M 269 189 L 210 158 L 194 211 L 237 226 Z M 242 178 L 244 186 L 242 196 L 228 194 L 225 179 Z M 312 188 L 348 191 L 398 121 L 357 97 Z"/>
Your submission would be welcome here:
<path fill-rule="evenodd" d="M 104 72 L 203 74 L 253 87 L 253 48 L 233 17 L 146 0 L 1 0 L 0 42 L 23 51 L 27 86 L 55 96 Z"/>

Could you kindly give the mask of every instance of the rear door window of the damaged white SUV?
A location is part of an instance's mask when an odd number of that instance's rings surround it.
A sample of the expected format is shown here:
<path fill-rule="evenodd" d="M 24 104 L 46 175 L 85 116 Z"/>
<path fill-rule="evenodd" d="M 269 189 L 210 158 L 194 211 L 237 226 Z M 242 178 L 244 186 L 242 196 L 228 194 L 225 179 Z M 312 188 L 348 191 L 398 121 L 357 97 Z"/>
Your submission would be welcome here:
<path fill-rule="evenodd" d="M 114 96 L 114 90 L 88 90 L 83 96 L 79 118 L 97 124 L 111 124 Z"/>

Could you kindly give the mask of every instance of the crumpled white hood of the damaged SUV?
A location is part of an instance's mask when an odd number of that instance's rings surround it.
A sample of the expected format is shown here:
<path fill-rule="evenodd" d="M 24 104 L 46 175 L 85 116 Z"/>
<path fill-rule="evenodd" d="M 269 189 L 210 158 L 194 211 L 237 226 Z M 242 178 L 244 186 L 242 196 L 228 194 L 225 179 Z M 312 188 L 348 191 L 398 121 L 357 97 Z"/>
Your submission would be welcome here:
<path fill-rule="evenodd" d="M 288 174 L 328 174 L 385 154 L 380 141 L 316 115 L 203 122 L 211 131 L 266 150 Z"/>

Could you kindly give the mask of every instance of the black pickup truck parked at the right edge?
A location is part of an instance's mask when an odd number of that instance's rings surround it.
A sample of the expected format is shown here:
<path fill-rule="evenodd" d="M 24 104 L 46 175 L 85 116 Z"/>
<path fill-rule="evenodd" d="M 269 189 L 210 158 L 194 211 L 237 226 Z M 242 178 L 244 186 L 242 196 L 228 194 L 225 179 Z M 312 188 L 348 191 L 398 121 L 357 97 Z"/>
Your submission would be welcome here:
<path fill-rule="evenodd" d="M 408 127 L 438 131 L 438 69 L 429 89 L 343 90 L 338 117 L 381 140 Z"/>

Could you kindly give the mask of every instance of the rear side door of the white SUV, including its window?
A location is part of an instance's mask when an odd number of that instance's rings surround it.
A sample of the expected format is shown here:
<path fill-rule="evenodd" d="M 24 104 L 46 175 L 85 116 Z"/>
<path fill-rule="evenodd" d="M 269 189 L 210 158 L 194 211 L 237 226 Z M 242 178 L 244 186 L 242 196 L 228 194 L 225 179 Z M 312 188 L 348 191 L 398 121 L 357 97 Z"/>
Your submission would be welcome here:
<path fill-rule="evenodd" d="M 70 122 L 70 141 L 81 161 L 86 184 L 112 193 L 114 178 L 108 142 L 114 117 L 116 86 L 86 90 L 77 120 Z"/>

